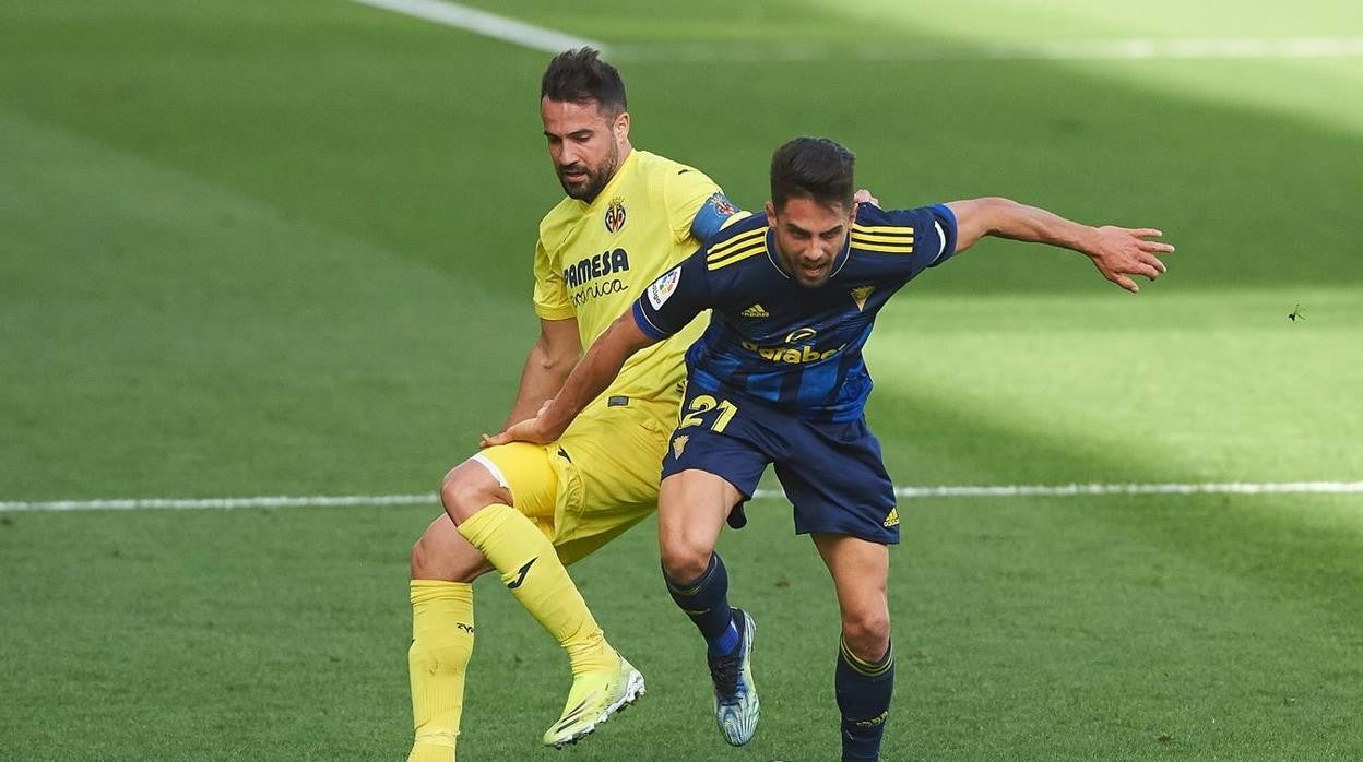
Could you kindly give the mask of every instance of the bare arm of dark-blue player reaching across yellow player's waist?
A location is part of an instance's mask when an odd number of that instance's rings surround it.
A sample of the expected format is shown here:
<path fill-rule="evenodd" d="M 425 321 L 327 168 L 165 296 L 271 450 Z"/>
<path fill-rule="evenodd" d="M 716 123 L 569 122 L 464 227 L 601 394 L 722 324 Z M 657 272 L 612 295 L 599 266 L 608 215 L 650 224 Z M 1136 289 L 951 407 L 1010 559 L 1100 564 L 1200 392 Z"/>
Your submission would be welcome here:
<path fill-rule="evenodd" d="M 578 363 L 568 380 L 563 383 L 563 390 L 557 397 L 540 406 L 540 413 L 526 421 L 507 427 L 496 436 L 484 436 L 481 446 L 506 444 L 507 442 L 533 442 L 547 444 L 563 436 L 563 432 L 572 423 L 572 418 L 596 399 L 605 387 L 611 386 L 615 376 L 620 375 L 624 361 L 635 352 L 657 344 L 658 339 L 646 335 L 634 322 L 634 312 L 624 315 L 611 323 L 587 350 L 586 357 Z"/>

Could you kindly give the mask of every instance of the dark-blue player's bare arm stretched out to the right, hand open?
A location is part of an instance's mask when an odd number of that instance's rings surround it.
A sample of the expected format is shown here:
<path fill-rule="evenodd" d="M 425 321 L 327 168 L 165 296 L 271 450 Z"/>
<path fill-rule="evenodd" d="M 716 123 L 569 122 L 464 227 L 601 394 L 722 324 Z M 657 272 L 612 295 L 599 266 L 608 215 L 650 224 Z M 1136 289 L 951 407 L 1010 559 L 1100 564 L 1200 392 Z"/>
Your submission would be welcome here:
<path fill-rule="evenodd" d="M 1169 244 L 1148 240 L 1164 234 L 1150 228 L 1092 228 L 1009 199 L 970 199 L 946 206 L 955 214 L 957 252 L 984 236 L 1069 248 L 1088 256 L 1104 278 L 1131 293 L 1141 286 L 1130 277 L 1159 278 L 1167 269 L 1156 255 L 1174 251 Z"/>

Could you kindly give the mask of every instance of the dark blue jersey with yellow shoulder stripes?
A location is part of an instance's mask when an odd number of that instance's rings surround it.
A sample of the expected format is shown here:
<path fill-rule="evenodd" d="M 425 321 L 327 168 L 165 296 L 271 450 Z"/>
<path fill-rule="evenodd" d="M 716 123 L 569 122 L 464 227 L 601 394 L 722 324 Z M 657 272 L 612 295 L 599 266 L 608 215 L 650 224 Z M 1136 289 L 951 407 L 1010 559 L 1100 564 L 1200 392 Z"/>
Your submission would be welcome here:
<path fill-rule="evenodd" d="M 721 230 L 634 301 L 657 339 L 711 309 L 687 352 L 694 388 L 735 395 L 815 421 L 853 421 L 871 394 L 861 348 L 876 312 L 923 270 L 955 252 L 945 206 L 886 211 L 863 203 L 833 275 L 816 289 L 781 266 L 766 215 Z"/>

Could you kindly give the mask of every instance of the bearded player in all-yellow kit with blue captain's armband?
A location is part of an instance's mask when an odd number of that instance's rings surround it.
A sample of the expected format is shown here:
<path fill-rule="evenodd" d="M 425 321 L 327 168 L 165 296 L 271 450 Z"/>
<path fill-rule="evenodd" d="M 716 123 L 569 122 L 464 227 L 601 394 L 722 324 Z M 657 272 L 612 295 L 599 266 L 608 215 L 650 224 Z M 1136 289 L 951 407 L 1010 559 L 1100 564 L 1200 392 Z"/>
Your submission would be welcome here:
<path fill-rule="evenodd" d="M 703 173 L 631 147 L 624 83 L 596 50 L 556 56 L 540 94 L 567 198 L 540 222 L 540 338 L 506 425 L 533 418 L 582 350 L 736 211 Z M 487 571 L 496 570 L 567 652 L 572 688 L 545 744 L 575 742 L 643 692 L 643 677 L 607 642 L 564 566 L 656 508 L 683 354 L 701 329 L 698 320 L 637 354 L 556 442 L 485 447 L 446 474 L 446 515 L 412 549 L 410 762 L 454 759 L 474 637 L 470 583 Z"/>

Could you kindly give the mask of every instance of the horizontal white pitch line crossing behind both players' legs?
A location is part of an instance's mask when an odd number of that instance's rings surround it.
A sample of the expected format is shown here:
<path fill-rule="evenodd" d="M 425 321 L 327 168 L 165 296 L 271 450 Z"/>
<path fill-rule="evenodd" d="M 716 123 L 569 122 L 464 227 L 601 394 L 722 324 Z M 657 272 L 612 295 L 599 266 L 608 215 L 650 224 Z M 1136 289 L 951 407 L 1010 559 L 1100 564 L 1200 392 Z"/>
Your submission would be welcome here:
<path fill-rule="evenodd" d="M 894 493 L 908 500 L 921 498 L 1074 498 L 1084 495 L 1355 495 L 1363 493 L 1363 481 L 1270 481 L 1270 483 L 1204 483 L 1204 484 L 1009 484 L 961 487 L 895 487 Z M 758 489 L 755 499 L 784 498 L 780 489 Z M 312 495 L 266 498 L 132 498 L 124 500 L 49 500 L 0 502 L 3 511 L 127 511 L 138 508 L 236 510 L 236 508 L 303 508 L 335 506 L 414 506 L 439 504 L 433 493 L 425 495 Z"/>

